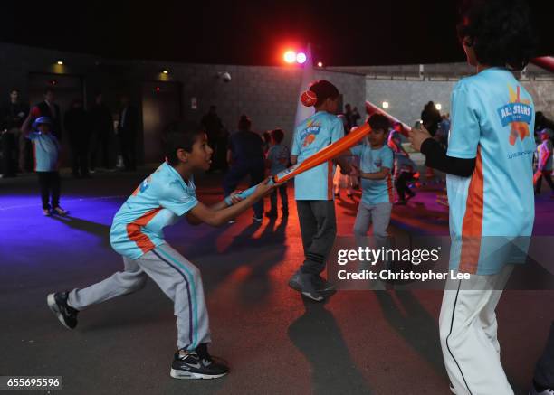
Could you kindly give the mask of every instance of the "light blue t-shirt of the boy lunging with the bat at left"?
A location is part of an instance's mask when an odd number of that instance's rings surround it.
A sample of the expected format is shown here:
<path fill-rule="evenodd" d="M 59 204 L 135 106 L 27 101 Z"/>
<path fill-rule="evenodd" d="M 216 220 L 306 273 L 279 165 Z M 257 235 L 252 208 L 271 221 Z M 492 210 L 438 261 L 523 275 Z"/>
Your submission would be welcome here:
<path fill-rule="evenodd" d="M 193 178 L 183 177 L 164 163 L 129 196 L 113 218 L 111 247 L 129 259 L 139 259 L 165 243 L 163 229 L 173 225 L 198 203 Z"/>

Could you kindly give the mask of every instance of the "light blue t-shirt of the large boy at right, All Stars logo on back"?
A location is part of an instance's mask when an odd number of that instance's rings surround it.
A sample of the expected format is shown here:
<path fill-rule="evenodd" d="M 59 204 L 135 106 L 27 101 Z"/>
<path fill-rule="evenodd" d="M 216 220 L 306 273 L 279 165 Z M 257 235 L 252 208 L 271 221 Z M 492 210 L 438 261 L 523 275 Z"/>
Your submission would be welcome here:
<path fill-rule="evenodd" d="M 510 71 L 491 68 L 460 80 L 451 108 L 447 155 L 476 165 L 470 177 L 446 176 L 450 267 L 494 274 L 522 258 L 526 247 L 510 244 L 533 228 L 533 101 Z"/>

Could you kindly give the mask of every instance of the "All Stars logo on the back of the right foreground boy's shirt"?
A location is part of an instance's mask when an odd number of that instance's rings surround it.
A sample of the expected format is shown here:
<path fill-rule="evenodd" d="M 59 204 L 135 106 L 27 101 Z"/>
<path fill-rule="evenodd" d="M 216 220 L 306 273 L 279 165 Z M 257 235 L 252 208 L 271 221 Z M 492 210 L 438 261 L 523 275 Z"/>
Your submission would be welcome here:
<path fill-rule="evenodd" d="M 511 125 L 509 141 L 513 146 L 518 137 L 523 140 L 530 136 L 529 125 L 531 123 L 532 111 L 530 107 L 530 99 L 521 99 L 520 86 L 514 91 L 511 85 L 508 85 L 510 94 L 510 103 L 498 108 L 498 115 L 501 118 L 503 127 Z"/>

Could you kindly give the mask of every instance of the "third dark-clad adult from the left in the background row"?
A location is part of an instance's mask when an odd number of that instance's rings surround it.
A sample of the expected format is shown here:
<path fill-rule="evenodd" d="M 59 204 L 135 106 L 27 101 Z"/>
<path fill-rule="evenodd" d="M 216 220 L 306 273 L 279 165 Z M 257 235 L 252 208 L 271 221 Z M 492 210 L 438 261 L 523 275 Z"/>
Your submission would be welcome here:
<path fill-rule="evenodd" d="M 74 99 L 63 118 L 65 130 L 72 146 L 72 173 L 77 178 L 89 178 L 89 147 L 91 122 L 81 99 Z"/>

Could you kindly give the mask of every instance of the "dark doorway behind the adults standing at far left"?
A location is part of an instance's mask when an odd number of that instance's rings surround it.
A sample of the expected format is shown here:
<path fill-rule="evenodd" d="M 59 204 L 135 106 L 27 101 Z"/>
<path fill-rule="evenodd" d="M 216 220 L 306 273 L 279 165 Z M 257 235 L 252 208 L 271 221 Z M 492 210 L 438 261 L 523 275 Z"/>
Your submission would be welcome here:
<path fill-rule="evenodd" d="M 53 88 L 55 103 L 60 106 L 60 116 L 63 125 L 63 115 L 70 108 L 73 99 L 84 99 L 83 84 L 81 76 L 49 74 L 49 73 L 30 73 L 29 74 L 29 102 L 31 107 L 44 100 L 44 89 Z M 63 130 L 63 129 L 62 129 Z M 62 146 L 69 147 L 67 133 L 62 131 Z M 62 150 L 62 165 L 69 165 L 70 158 L 67 155 L 68 150 Z"/>

